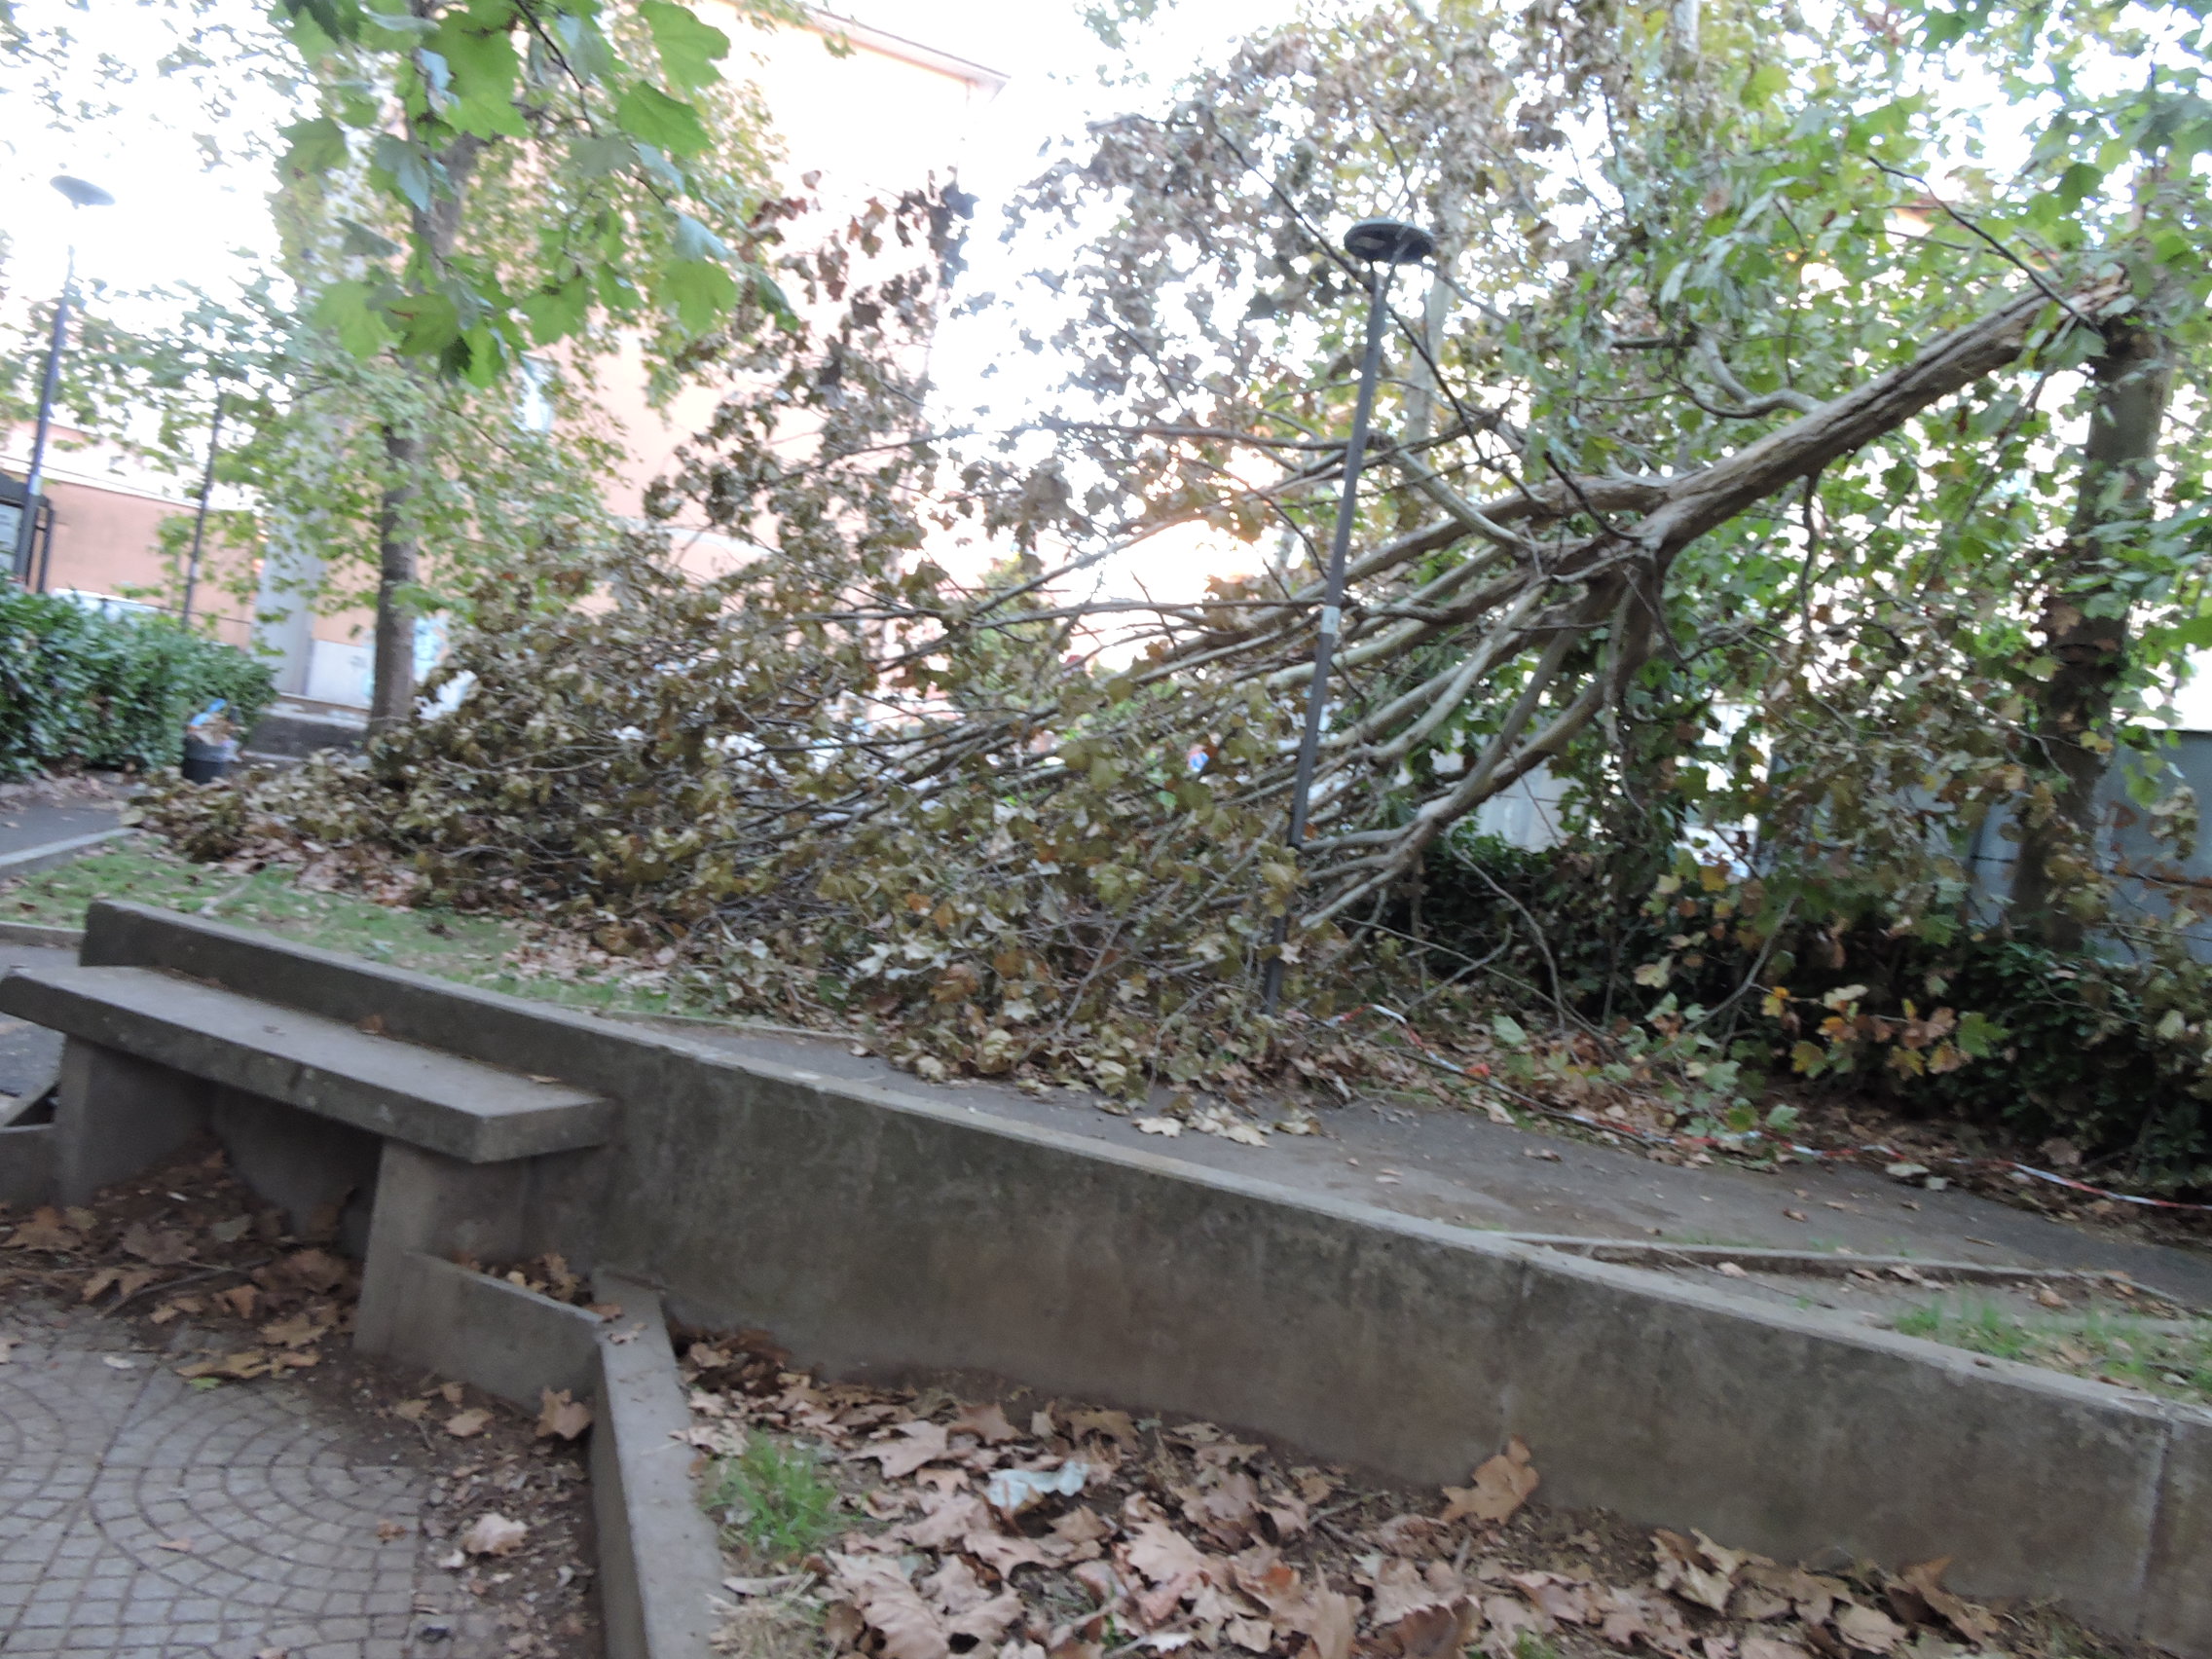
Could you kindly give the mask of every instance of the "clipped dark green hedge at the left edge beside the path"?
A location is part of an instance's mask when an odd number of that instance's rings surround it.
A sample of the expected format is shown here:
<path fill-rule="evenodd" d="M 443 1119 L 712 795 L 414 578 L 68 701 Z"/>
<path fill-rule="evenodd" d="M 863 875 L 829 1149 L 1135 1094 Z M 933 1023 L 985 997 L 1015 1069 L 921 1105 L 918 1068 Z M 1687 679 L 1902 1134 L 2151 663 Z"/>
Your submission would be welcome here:
<path fill-rule="evenodd" d="M 0 779 L 175 765 L 184 723 L 217 697 L 246 730 L 276 688 L 243 650 L 168 617 L 102 617 L 0 582 Z"/>

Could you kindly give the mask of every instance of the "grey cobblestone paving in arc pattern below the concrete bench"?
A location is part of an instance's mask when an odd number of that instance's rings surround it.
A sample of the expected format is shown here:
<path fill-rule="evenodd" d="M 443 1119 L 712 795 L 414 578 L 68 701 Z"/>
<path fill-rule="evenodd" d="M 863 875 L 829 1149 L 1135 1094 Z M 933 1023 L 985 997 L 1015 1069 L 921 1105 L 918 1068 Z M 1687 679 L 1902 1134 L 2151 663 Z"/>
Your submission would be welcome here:
<path fill-rule="evenodd" d="M 305 1389 L 195 1391 L 95 1314 L 0 1312 L 0 1343 L 4 1659 L 416 1646 L 425 1473 Z"/>

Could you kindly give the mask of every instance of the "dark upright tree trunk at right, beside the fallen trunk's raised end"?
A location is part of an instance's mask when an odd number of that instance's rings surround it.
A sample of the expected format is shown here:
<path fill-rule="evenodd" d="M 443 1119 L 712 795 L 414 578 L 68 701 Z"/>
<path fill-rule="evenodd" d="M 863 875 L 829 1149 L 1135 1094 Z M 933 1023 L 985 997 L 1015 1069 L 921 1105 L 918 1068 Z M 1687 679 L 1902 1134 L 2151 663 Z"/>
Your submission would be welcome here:
<path fill-rule="evenodd" d="M 2059 664 L 2044 684 L 2035 721 L 2042 759 L 2057 772 L 2057 801 L 2048 818 L 2024 825 L 2013 865 L 2011 922 L 2055 951 L 2081 949 L 2081 920 L 2066 907 L 2066 894 L 2086 874 L 2075 860 L 2095 858 L 2112 692 L 2128 666 L 2126 599 L 2110 584 L 2084 577 L 2150 515 L 2174 378 L 2166 336 L 2132 316 L 2106 325 L 2090 374 L 2095 407 L 2081 445 L 2079 498 L 2039 624 L 2044 648 Z"/>

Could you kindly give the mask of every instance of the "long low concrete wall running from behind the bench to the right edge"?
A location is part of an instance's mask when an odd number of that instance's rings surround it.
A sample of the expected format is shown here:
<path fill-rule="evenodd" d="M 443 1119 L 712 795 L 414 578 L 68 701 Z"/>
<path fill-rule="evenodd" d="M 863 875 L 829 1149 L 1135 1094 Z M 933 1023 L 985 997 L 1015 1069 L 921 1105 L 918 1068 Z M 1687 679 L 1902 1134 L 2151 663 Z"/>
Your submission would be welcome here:
<path fill-rule="evenodd" d="M 1517 1433 L 1559 1504 L 1783 1557 L 1953 1555 L 1969 1593 L 2212 1657 L 2208 1411 L 195 918 L 100 905 L 84 960 L 604 1093 L 617 1139 L 509 1225 L 832 1371 L 993 1371 L 1409 1482 Z"/>

